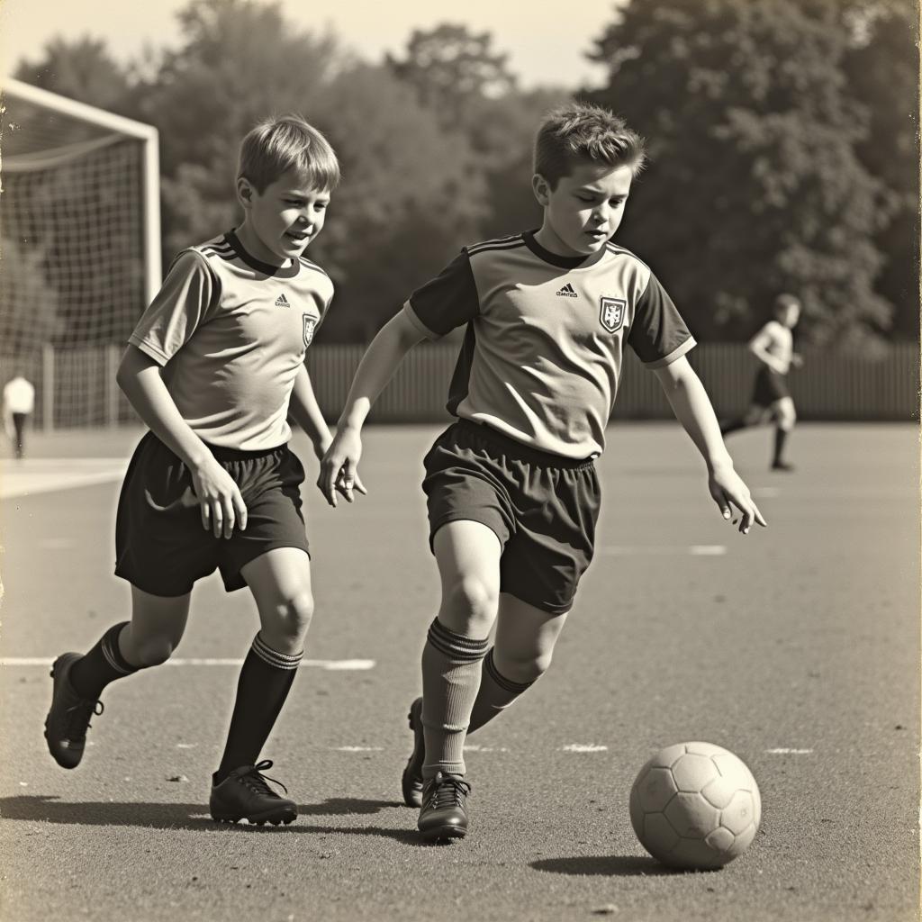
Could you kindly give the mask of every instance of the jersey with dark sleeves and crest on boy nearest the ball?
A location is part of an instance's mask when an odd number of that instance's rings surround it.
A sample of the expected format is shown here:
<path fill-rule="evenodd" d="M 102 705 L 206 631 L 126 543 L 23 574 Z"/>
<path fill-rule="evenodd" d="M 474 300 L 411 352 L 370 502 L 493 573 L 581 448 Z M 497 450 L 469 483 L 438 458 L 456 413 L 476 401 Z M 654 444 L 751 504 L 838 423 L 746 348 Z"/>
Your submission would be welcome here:
<path fill-rule="evenodd" d="M 465 248 L 404 311 L 431 339 L 467 324 L 450 413 L 568 458 L 605 449 L 625 344 L 648 368 L 695 345 L 634 254 L 607 243 L 589 256 L 560 256 L 533 231 Z"/>

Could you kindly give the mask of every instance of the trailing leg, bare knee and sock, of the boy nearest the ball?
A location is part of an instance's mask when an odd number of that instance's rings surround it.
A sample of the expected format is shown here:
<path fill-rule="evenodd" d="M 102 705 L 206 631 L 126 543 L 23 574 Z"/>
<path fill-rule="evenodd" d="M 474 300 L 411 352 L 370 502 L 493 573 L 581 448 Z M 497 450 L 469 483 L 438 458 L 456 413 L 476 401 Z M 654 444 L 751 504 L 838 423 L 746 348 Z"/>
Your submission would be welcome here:
<path fill-rule="evenodd" d="M 547 671 L 567 613 L 551 614 L 502 593 L 493 645 L 483 663 L 467 733 L 489 723 Z"/>

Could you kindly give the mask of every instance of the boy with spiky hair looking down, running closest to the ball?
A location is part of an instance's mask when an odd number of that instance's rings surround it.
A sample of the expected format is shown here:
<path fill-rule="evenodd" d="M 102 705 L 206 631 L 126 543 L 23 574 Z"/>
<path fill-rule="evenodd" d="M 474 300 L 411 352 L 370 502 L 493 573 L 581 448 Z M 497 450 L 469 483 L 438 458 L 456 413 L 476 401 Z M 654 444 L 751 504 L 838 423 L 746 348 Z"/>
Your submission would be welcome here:
<path fill-rule="evenodd" d="M 626 344 L 703 455 L 724 517 L 732 504 L 743 533 L 765 524 L 685 357 L 691 334 L 650 269 L 609 242 L 643 162 L 642 139 L 610 112 L 551 112 L 535 146 L 540 230 L 467 247 L 410 296 L 365 353 L 321 464 L 318 484 L 336 505 L 337 486 L 348 495 L 356 482 L 362 423 L 404 355 L 467 325 L 448 402 L 458 419 L 424 459 L 442 602 L 422 653 L 403 787 L 408 804 L 421 803 L 427 840 L 467 833 L 468 727 L 499 714 L 550 664 L 592 559 L 593 462 Z"/>

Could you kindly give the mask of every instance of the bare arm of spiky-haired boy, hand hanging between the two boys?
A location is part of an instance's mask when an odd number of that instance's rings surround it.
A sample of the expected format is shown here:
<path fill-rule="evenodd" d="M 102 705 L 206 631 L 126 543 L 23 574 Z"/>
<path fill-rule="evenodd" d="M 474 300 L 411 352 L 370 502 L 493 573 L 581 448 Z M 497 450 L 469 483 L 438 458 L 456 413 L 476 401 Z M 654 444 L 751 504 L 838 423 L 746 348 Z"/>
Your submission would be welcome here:
<path fill-rule="evenodd" d="M 320 463 L 317 486 L 331 506 L 337 504 L 340 484 L 343 495 L 351 502 L 352 488 L 360 482 L 361 427 L 384 385 L 422 338 L 407 313 L 400 311 L 378 331 L 362 356 L 337 422 L 337 434 Z"/>

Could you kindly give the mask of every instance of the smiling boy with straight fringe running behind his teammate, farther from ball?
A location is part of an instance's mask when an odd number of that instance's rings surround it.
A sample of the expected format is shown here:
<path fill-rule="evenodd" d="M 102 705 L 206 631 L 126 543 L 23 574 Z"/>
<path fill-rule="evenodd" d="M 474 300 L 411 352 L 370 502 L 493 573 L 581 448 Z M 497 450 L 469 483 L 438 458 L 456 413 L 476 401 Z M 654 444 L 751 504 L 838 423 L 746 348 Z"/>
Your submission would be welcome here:
<path fill-rule="evenodd" d="M 171 656 L 195 581 L 217 568 L 229 591 L 249 586 L 261 627 L 212 778 L 216 820 L 278 824 L 297 812 L 266 785 L 261 773 L 272 763 L 258 758 L 313 614 L 304 471 L 287 445 L 287 416 L 323 455 L 330 434 L 304 355 L 333 285 L 302 254 L 324 227 L 338 180 L 336 154 L 301 118 L 269 120 L 243 139 L 242 224 L 176 257 L 118 373 L 150 428 L 116 521 L 115 573 L 132 585 L 131 621 L 86 656 L 59 656 L 52 672 L 45 737 L 54 759 L 74 768 L 105 686 Z"/>

